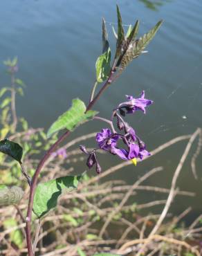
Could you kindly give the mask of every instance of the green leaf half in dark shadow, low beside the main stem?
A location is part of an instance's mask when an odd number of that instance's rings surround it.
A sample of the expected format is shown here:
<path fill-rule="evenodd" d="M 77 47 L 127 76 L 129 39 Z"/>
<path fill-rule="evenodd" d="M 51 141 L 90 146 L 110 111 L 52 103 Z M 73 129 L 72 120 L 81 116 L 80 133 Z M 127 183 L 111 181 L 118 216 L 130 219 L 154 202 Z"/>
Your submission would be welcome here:
<path fill-rule="evenodd" d="M 35 193 L 33 211 L 39 218 L 57 206 L 60 195 L 77 189 L 82 176 L 64 176 L 39 183 Z"/>

